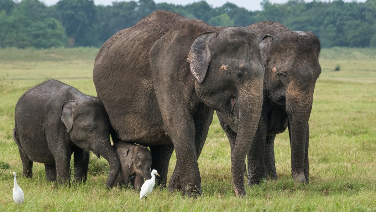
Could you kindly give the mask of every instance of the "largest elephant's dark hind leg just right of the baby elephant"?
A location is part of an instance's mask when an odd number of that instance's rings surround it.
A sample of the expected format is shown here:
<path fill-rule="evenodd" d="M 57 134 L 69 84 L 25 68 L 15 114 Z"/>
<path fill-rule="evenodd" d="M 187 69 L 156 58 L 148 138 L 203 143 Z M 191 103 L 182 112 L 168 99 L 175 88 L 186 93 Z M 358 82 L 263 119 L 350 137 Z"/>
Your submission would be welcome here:
<path fill-rule="evenodd" d="M 174 145 L 157 145 L 150 146 L 150 153 L 152 153 L 152 170 L 158 171 L 161 175 L 156 177 L 156 184 L 162 187 L 167 185 L 168 164 L 170 163 L 171 155 L 174 152 Z"/>

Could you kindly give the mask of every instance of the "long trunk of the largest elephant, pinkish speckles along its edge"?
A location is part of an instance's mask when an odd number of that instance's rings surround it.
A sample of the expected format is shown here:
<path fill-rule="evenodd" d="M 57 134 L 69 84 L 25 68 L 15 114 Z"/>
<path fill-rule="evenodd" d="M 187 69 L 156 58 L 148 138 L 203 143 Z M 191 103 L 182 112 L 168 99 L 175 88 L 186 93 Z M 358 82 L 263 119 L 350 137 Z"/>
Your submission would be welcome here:
<path fill-rule="evenodd" d="M 231 151 L 231 171 L 235 194 L 244 196 L 244 162 L 255 136 L 262 109 L 262 78 L 264 72 L 254 73 L 252 81 L 239 89 L 237 137 Z M 260 160 L 262 161 L 262 160 Z"/>

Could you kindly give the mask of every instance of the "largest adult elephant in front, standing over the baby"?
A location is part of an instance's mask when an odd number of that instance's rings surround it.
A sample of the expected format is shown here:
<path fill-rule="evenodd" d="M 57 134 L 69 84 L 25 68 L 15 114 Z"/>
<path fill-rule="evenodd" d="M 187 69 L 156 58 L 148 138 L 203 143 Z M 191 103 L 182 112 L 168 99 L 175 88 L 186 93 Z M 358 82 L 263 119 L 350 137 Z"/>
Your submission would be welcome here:
<path fill-rule="evenodd" d="M 99 50 L 93 72 L 115 142 L 150 146 L 162 185 L 175 148 L 168 188 L 200 194 L 197 159 L 214 110 L 233 117 L 237 102 L 232 175 L 235 193 L 244 195 L 244 160 L 262 105 L 259 52 L 256 35 L 246 27 L 212 27 L 169 11 L 153 12 L 118 32 Z"/>

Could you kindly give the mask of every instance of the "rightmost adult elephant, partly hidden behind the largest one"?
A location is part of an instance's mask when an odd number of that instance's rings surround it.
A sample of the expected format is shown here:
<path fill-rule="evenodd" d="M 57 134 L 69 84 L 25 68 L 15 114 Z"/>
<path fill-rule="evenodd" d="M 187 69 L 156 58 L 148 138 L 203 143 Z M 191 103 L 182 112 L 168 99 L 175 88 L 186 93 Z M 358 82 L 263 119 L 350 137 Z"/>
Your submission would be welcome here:
<path fill-rule="evenodd" d="M 308 183 L 308 120 L 315 83 L 321 73 L 318 63 L 320 41 L 311 32 L 290 31 L 274 21 L 262 21 L 247 27 L 258 36 L 265 66 L 262 113 L 248 153 L 248 183 L 258 184 L 263 177 L 278 178 L 274 139 L 287 127 L 292 177 L 295 181 Z M 237 114 L 237 105 L 234 112 Z M 221 114 L 218 118 L 233 146 L 238 124 Z"/>

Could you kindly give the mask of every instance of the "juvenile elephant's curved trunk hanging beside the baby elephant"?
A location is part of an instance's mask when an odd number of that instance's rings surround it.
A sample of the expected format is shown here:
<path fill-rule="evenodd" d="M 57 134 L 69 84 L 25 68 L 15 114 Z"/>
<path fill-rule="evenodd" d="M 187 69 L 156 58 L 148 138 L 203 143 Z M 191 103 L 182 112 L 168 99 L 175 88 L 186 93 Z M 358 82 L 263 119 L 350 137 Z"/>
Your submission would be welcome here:
<path fill-rule="evenodd" d="M 112 188 L 114 186 L 115 180 L 119 174 L 120 170 L 120 160 L 115 152 L 115 149 L 111 146 L 110 142 L 105 142 L 106 144 L 98 146 L 98 153 L 102 155 L 110 165 L 110 171 L 106 180 L 106 187 Z"/>

